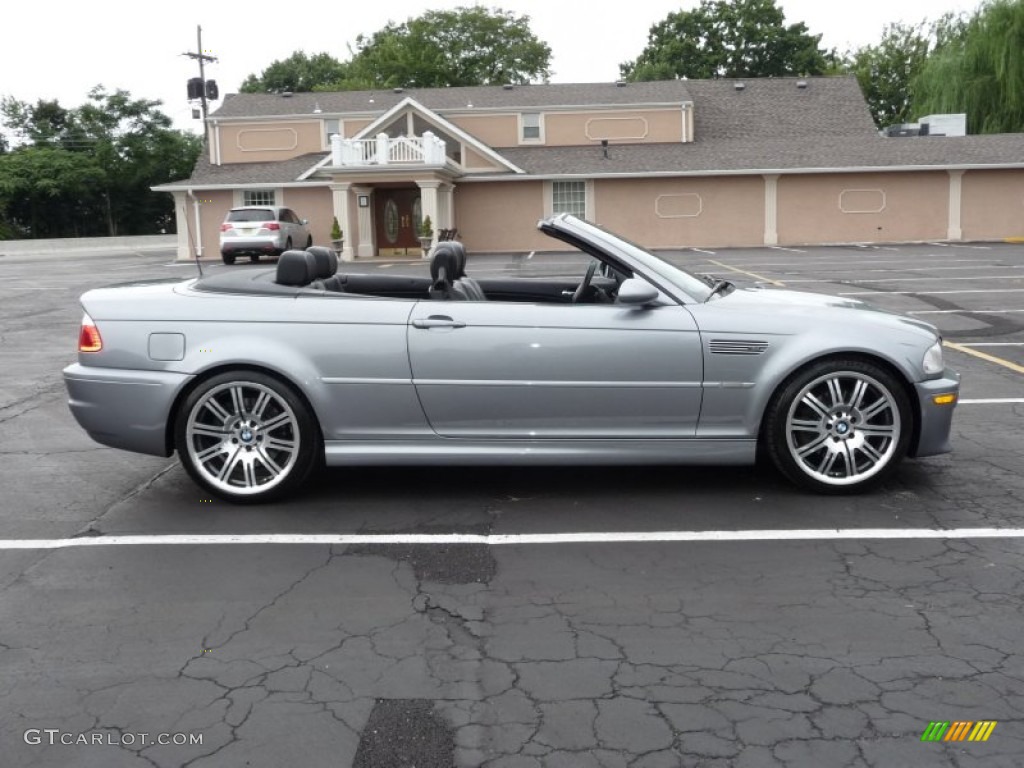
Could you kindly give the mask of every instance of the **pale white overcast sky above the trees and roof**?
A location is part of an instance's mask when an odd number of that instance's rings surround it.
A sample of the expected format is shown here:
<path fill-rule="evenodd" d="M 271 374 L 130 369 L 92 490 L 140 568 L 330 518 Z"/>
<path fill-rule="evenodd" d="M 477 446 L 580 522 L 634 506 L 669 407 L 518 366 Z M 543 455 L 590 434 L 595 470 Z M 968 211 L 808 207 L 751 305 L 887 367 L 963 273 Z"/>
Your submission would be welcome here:
<path fill-rule="evenodd" d="M 474 0 L 389 2 L 246 3 L 222 0 L 23 0 L 4 9 L 8 34 L 0 42 L 0 96 L 24 101 L 56 98 L 77 106 L 102 84 L 135 97 L 160 99 L 178 128 L 199 132 L 185 83 L 198 66 L 181 55 L 203 48 L 217 56 L 206 76 L 221 95 L 237 92 L 252 73 L 296 50 L 328 52 L 344 60 L 357 35 L 372 35 L 389 20 L 426 10 L 473 5 Z M 530 29 L 552 49 L 555 83 L 610 82 L 618 65 L 643 50 L 650 27 L 697 0 L 625 0 L 620 10 L 605 0 L 494 0 L 481 2 L 528 15 Z M 979 0 L 778 0 L 786 24 L 804 22 L 840 51 L 878 41 L 892 22 L 935 19 L 945 11 L 971 11 Z M 283 15 L 285 13 L 285 15 Z M 213 109 L 217 103 L 213 104 Z"/>

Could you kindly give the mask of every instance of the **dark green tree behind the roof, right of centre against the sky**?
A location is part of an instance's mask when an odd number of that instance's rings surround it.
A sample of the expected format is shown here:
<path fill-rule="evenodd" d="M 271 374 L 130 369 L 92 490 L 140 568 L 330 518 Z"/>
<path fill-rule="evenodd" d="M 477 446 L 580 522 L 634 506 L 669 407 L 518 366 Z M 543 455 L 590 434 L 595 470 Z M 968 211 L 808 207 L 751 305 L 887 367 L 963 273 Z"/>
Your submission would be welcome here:
<path fill-rule="evenodd" d="M 821 75 L 820 41 L 803 22 L 786 26 L 775 0 L 701 0 L 651 27 L 647 46 L 620 71 L 627 80 Z"/>

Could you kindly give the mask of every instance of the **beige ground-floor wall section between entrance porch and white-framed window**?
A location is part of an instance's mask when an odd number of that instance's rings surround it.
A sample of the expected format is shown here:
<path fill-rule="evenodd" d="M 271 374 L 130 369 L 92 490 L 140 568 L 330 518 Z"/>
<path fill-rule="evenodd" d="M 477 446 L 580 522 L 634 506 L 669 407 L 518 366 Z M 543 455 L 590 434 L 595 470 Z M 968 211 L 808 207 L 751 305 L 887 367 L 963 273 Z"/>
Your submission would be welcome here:
<path fill-rule="evenodd" d="M 566 250 L 537 230 L 544 216 L 541 181 L 464 183 L 455 188 L 455 225 L 473 253 Z"/>

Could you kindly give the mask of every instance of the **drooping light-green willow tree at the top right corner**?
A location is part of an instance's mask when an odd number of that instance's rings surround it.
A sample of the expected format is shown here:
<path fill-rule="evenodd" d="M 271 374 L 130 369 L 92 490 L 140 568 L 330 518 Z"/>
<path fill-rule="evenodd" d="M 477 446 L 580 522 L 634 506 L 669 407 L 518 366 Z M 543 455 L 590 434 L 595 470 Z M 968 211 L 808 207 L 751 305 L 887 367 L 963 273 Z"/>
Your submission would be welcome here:
<path fill-rule="evenodd" d="M 970 133 L 1024 131 L 1024 0 L 992 0 L 941 34 L 913 80 L 913 115 L 967 113 Z"/>

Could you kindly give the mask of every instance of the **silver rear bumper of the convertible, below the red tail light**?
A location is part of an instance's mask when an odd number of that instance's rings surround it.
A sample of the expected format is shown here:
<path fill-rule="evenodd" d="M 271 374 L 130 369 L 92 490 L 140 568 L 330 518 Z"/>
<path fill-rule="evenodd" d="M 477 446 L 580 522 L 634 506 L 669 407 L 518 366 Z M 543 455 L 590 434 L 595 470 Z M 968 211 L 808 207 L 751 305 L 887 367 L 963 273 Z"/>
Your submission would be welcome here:
<path fill-rule="evenodd" d="M 170 456 L 171 406 L 191 376 L 78 362 L 66 368 L 63 376 L 71 412 L 92 439 L 137 454 Z"/>

